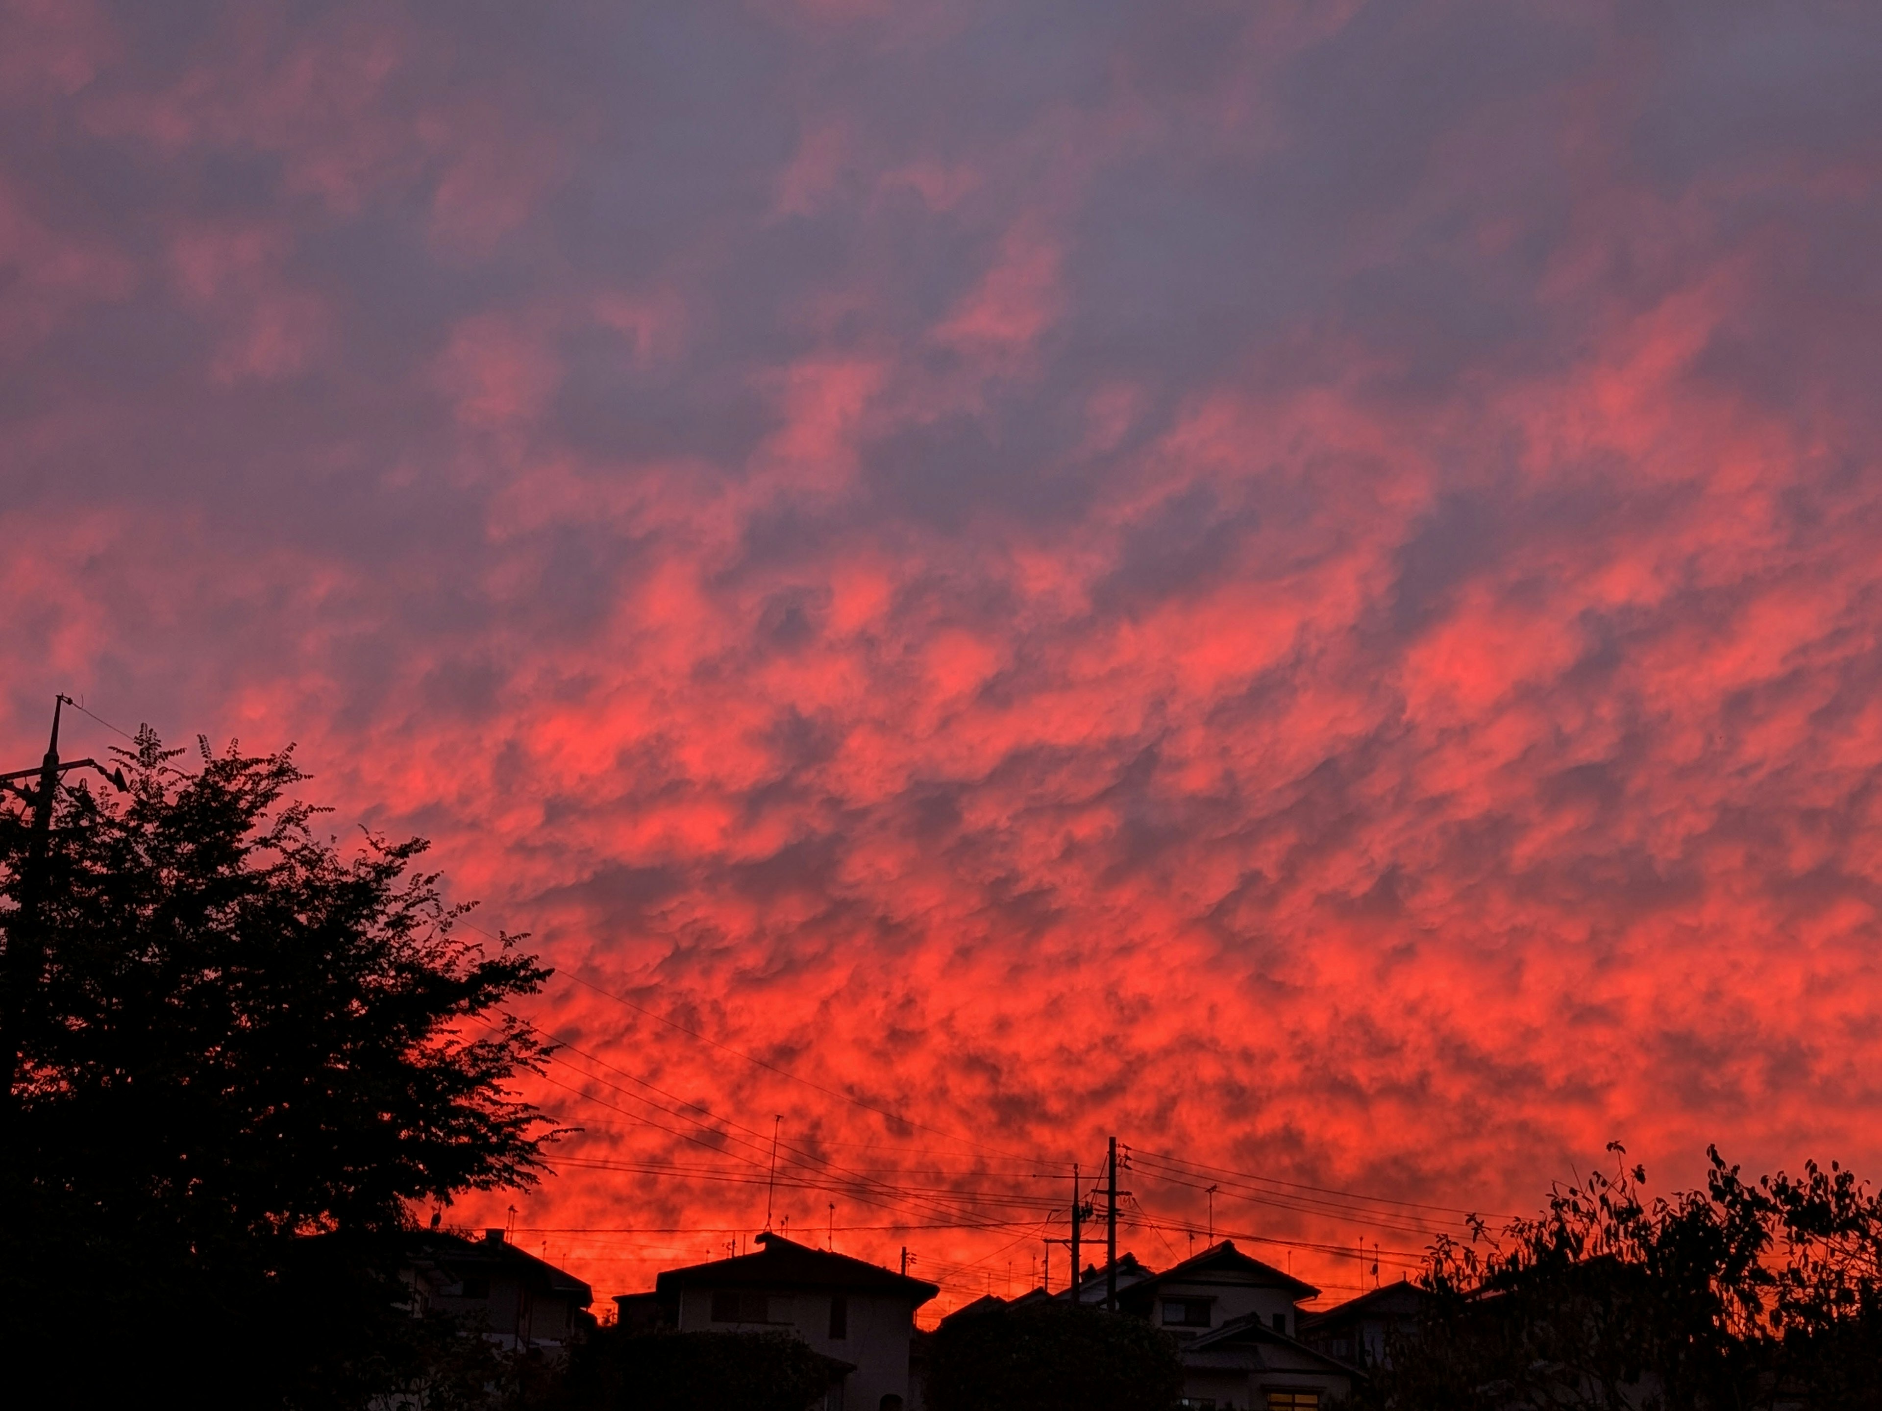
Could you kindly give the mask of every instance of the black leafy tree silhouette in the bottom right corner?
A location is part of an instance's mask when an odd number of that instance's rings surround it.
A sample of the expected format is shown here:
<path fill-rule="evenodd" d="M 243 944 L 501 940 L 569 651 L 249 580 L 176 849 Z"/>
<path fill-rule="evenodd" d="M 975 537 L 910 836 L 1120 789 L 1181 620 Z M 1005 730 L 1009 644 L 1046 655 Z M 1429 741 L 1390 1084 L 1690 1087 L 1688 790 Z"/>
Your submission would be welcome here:
<path fill-rule="evenodd" d="M 1641 1166 L 1556 1187 L 1498 1236 L 1440 1240 L 1436 1294 L 1361 1405 L 1882 1407 L 1882 1198 L 1841 1166 L 1647 1200 Z"/>

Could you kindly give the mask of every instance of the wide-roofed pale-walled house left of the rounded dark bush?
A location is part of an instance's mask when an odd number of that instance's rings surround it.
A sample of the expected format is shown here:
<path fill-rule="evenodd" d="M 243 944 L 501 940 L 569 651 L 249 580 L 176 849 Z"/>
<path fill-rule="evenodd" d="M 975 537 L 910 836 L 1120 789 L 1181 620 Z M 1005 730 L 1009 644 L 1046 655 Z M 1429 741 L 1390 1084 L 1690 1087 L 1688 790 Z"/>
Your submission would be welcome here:
<path fill-rule="evenodd" d="M 832 1407 L 903 1411 L 915 1309 L 941 1291 L 781 1234 L 760 1234 L 758 1245 L 753 1255 L 666 1270 L 653 1283 L 655 1306 L 674 1309 L 679 1332 L 790 1332 L 854 1366 Z"/>

